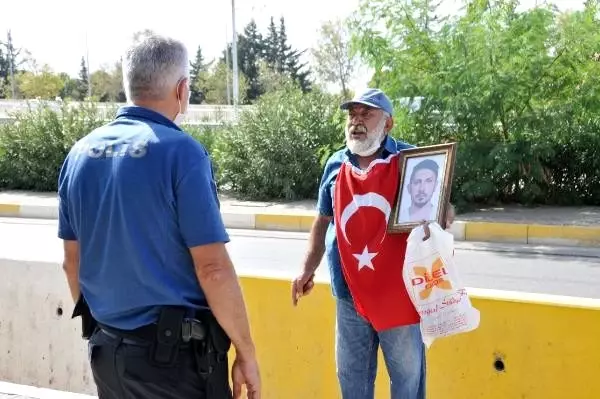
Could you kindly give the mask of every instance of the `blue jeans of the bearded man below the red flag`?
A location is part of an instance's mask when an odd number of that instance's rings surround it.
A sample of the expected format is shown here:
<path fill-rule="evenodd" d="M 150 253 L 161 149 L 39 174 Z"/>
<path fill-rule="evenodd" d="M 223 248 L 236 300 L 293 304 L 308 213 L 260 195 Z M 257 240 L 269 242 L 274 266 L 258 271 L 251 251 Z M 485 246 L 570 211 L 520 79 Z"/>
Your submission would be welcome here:
<path fill-rule="evenodd" d="M 351 299 L 336 298 L 336 367 L 343 399 L 373 399 L 379 345 L 391 399 L 425 399 L 425 345 L 418 324 L 377 333 Z"/>

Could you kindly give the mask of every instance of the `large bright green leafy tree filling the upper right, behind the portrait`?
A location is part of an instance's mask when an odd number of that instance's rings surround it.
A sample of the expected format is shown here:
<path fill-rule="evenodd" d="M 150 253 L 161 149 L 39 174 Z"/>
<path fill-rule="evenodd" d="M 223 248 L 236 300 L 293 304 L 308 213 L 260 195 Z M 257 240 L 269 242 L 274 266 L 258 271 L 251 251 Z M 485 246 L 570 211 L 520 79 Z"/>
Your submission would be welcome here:
<path fill-rule="evenodd" d="M 597 1 L 517 6 L 470 1 L 441 19 L 425 0 L 364 1 L 354 45 L 401 110 L 396 135 L 460 143 L 454 201 L 600 204 Z"/>

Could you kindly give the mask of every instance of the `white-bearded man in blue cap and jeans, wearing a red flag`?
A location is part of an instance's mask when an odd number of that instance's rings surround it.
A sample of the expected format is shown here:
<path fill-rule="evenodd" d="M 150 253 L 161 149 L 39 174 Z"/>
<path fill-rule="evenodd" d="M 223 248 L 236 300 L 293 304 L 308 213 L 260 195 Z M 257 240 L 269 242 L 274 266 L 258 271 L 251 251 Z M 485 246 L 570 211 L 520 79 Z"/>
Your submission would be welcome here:
<path fill-rule="evenodd" d="M 311 292 L 326 252 L 342 397 L 373 398 L 381 346 L 392 399 L 424 399 L 419 316 L 399 282 L 407 235 L 386 234 L 398 187 L 397 154 L 413 146 L 388 135 L 393 109 L 381 90 L 359 93 L 342 109 L 348 110 L 346 148 L 325 166 L 303 270 L 292 284 L 293 302 Z"/>

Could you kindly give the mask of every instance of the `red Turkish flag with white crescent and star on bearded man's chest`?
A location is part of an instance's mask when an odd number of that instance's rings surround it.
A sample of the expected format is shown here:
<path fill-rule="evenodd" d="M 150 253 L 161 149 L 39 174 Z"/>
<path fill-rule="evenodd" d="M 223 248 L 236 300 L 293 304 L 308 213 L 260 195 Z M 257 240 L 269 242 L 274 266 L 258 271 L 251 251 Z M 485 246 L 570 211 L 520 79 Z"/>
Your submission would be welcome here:
<path fill-rule="evenodd" d="M 375 330 L 420 321 L 402 268 L 408 234 L 387 234 L 398 187 L 398 154 L 360 170 L 342 164 L 335 184 L 334 218 L 342 271 L 356 310 Z"/>

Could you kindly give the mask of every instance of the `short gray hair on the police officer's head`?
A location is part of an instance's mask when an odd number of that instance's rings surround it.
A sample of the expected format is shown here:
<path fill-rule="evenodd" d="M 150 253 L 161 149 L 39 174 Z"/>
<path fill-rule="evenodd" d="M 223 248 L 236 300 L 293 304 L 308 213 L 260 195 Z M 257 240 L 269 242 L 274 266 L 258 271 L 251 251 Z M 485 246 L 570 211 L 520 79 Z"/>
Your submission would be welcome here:
<path fill-rule="evenodd" d="M 123 57 L 123 87 L 128 101 L 163 100 L 182 78 L 189 78 L 183 43 L 158 35 L 136 40 Z"/>

